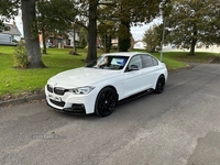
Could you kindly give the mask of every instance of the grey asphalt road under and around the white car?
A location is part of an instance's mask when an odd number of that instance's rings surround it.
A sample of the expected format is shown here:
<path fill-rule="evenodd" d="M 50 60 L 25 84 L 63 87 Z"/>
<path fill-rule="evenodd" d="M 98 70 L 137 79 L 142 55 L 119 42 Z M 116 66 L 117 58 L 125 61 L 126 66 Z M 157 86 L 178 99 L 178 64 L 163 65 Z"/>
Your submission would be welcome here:
<path fill-rule="evenodd" d="M 162 95 L 107 118 L 53 111 L 44 101 L 0 109 L 1 165 L 219 165 L 220 65 L 170 73 Z"/>

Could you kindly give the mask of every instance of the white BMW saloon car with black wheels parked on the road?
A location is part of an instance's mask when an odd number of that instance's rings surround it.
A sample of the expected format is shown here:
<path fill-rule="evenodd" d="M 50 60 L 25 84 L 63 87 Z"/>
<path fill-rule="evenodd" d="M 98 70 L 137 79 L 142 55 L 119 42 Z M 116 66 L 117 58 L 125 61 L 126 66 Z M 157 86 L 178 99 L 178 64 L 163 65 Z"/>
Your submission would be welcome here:
<path fill-rule="evenodd" d="M 63 112 L 107 117 L 122 99 L 142 91 L 163 92 L 167 76 L 165 64 L 151 54 L 103 54 L 85 67 L 50 78 L 46 101 Z"/>

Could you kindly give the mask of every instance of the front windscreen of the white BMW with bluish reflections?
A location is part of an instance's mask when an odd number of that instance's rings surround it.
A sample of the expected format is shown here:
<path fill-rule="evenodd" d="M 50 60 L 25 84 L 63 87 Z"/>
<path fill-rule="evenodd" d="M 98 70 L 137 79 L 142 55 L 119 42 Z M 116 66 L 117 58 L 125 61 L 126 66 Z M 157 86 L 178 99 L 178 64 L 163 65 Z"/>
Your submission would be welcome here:
<path fill-rule="evenodd" d="M 89 63 L 86 67 L 100 68 L 100 69 L 123 69 L 128 62 L 127 56 L 117 55 L 102 55 L 97 59 Z"/>

